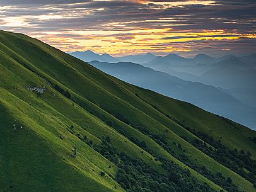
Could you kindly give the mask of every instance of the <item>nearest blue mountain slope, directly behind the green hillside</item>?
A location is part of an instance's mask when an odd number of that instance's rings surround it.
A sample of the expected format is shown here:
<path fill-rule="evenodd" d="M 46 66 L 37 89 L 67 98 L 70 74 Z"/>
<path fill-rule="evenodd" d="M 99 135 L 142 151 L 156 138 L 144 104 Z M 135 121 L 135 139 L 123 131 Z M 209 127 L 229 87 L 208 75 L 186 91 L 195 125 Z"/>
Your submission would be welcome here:
<path fill-rule="evenodd" d="M 165 72 L 154 71 L 131 62 L 110 64 L 93 61 L 90 64 L 125 82 L 151 89 L 172 98 L 188 101 L 204 108 L 204 110 L 226 116 L 243 125 L 252 127 L 252 122 L 256 120 L 255 108 L 241 103 L 230 94 L 224 93 L 214 86 L 184 81 Z"/>

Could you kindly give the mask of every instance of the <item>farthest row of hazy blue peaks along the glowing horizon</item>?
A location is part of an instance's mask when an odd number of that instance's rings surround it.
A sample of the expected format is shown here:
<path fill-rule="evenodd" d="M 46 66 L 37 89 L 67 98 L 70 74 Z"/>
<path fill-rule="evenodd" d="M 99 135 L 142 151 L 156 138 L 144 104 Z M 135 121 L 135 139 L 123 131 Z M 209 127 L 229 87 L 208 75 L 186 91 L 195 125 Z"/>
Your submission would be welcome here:
<path fill-rule="evenodd" d="M 112 57 L 109 54 L 96 54 L 91 50 L 86 50 L 84 52 L 70 52 L 70 55 L 77 57 L 81 60 L 86 62 L 90 62 L 93 60 L 98 60 L 100 62 L 133 62 L 136 64 L 143 64 L 143 65 L 153 65 L 153 63 L 163 62 L 165 65 L 172 65 L 172 66 L 182 66 L 182 65 L 197 65 L 197 64 L 204 64 L 204 65 L 211 65 L 216 62 L 220 62 L 222 60 L 231 60 L 231 59 L 238 59 L 241 60 L 249 65 L 253 65 L 256 67 L 255 59 L 256 54 L 236 57 L 235 55 L 224 55 L 223 57 L 211 57 L 206 54 L 197 54 L 194 58 L 190 59 L 187 57 L 182 57 L 178 54 L 168 54 L 165 56 L 156 56 L 151 53 L 147 54 L 135 54 L 135 55 L 124 55 L 121 57 Z"/>

